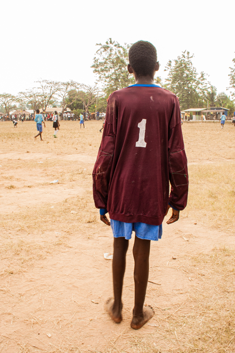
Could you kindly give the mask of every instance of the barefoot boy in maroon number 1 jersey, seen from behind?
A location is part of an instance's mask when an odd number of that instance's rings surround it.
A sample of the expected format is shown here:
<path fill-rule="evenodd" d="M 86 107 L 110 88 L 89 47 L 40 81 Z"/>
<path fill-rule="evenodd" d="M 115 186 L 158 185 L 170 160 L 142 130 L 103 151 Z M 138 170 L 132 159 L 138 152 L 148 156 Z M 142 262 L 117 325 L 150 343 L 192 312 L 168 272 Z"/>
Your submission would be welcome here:
<path fill-rule="evenodd" d="M 154 84 L 154 74 L 159 70 L 155 47 L 149 42 L 136 42 L 129 50 L 129 63 L 128 71 L 136 84 L 109 97 L 93 170 L 93 197 L 101 221 L 111 223 L 114 236 L 114 299 L 107 301 L 106 309 L 115 322 L 122 321 L 125 257 L 135 232 L 131 327 L 139 329 L 154 315 L 151 306 L 143 306 L 150 241 L 161 238 L 162 221 L 170 207 L 172 215 L 167 224 L 176 222 L 180 210 L 186 207 L 188 172 L 178 98 Z"/>

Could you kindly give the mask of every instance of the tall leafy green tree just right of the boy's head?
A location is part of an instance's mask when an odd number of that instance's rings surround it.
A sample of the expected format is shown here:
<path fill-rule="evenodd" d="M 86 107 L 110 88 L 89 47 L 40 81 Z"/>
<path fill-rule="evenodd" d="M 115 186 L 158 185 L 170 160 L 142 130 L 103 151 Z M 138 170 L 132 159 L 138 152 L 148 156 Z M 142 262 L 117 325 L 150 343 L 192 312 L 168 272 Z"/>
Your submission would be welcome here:
<path fill-rule="evenodd" d="M 185 50 L 173 60 L 174 64 L 169 60 L 164 70 L 168 71 L 167 86 L 179 98 L 181 109 L 196 108 L 207 100 L 208 82 L 205 73 L 201 72 L 198 77 L 192 58 L 193 55 L 190 56 Z"/>

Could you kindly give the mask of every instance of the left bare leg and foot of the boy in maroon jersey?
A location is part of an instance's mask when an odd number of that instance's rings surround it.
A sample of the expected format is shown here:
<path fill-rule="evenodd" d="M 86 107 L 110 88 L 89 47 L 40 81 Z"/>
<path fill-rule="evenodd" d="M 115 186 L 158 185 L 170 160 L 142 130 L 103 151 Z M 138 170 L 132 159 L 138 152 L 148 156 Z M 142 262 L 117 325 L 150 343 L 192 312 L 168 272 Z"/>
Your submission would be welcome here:
<path fill-rule="evenodd" d="M 106 309 L 115 322 L 122 321 L 122 286 L 126 268 L 126 251 L 129 240 L 124 237 L 114 238 L 113 241 L 113 293 L 114 299 L 106 302 Z"/>

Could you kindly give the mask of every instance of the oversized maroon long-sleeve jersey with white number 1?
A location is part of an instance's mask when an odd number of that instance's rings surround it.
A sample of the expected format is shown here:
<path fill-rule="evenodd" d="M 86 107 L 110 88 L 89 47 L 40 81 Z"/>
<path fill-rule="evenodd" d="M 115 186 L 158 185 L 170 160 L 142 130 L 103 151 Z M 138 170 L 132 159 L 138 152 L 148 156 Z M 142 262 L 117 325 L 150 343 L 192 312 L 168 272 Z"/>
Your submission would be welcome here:
<path fill-rule="evenodd" d="M 177 96 L 153 85 L 113 92 L 93 170 L 95 207 L 113 220 L 160 225 L 168 202 L 183 210 L 187 194 Z"/>

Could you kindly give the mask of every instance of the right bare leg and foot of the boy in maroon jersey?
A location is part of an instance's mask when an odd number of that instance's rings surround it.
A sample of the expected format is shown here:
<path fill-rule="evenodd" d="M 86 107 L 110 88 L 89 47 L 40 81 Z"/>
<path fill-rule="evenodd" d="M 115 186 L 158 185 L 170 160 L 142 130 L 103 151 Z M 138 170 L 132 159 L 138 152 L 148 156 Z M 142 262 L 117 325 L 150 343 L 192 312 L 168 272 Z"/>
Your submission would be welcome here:
<path fill-rule="evenodd" d="M 151 306 L 143 306 L 146 295 L 149 275 L 150 240 L 140 239 L 135 236 L 133 255 L 135 260 L 135 306 L 131 321 L 132 329 L 141 328 L 154 315 Z"/>

